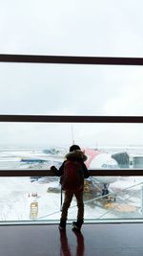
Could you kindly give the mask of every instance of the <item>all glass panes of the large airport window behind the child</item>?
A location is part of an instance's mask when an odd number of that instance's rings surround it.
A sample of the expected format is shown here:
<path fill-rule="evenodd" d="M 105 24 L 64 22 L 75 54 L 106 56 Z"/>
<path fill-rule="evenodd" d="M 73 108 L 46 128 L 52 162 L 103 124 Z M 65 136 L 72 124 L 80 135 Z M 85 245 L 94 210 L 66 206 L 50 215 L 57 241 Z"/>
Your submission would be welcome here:
<path fill-rule="evenodd" d="M 0 54 L 142 57 L 142 8 L 141 0 L 6 0 Z M 142 66 L 0 62 L 0 115 L 142 116 L 142 83 Z M 142 126 L 0 122 L 0 172 L 49 172 L 72 143 L 88 155 L 91 170 L 142 170 Z M 90 177 L 85 220 L 142 219 L 142 180 Z M 0 221 L 59 220 L 57 177 L 1 176 L 0 187 Z M 75 218 L 72 201 L 69 219 Z"/>

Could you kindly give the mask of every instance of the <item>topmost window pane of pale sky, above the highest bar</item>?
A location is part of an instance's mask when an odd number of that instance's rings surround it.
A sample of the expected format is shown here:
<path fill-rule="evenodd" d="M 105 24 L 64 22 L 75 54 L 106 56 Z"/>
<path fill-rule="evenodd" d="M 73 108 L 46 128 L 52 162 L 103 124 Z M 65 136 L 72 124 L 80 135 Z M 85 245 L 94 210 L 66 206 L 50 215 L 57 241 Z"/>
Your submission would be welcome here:
<path fill-rule="evenodd" d="M 1 53 L 142 56 L 141 0 L 1 0 Z"/>

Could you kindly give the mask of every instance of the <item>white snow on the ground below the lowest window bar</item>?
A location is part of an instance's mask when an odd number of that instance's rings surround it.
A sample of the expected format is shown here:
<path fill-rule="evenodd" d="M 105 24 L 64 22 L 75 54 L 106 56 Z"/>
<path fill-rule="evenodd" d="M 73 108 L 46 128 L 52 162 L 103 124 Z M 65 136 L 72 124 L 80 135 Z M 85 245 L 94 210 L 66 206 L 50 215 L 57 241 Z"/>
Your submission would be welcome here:
<path fill-rule="evenodd" d="M 126 185 L 125 186 L 125 183 Z M 115 184 L 116 183 L 116 184 Z M 118 180 L 112 184 L 112 189 L 120 189 L 133 184 L 133 180 Z M 122 187 L 120 187 L 122 185 Z M 30 177 L 1 177 L 0 178 L 0 221 L 44 221 L 44 220 L 59 220 L 60 219 L 60 193 L 48 193 L 49 187 L 57 187 L 58 181 L 31 182 Z M 32 195 L 37 194 L 37 197 Z M 119 194 L 120 195 L 120 194 Z M 124 198 L 126 199 L 126 194 Z M 64 195 L 63 195 L 64 197 Z M 122 194 L 121 194 L 122 197 Z M 128 198 L 129 196 L 127 196 Z M 31 202 L 38 202 L 38 213 L 35 219 L 30 218 Z M 138 202 L 139 201 L 139 202 Z M 139 205 L 138 205 L 139 204 Z M 130 201 L 131 205 L 131 201 Z M 132 205 L 140 206 L 140 198 L 132 198 Z M 98 203 L 95 200 L 85 202 L 85 220 L 92 219 L 116 219 L 114 209 L 104 207 L 105 204 Z M 72 205 L 69 210 L 69 220 L 76 219 L 77 207 L 76 201 L 73 198 Z"/>

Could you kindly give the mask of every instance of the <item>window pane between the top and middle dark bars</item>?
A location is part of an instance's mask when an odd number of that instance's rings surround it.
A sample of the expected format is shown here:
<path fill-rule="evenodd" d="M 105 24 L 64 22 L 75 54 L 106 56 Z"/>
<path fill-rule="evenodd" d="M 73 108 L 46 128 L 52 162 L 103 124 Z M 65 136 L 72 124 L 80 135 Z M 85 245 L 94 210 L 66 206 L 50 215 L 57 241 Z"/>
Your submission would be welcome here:
<path fill-rule="evenodd" d="M 142 66 L 0 63 L 0 114 L 142 115 Z"/>

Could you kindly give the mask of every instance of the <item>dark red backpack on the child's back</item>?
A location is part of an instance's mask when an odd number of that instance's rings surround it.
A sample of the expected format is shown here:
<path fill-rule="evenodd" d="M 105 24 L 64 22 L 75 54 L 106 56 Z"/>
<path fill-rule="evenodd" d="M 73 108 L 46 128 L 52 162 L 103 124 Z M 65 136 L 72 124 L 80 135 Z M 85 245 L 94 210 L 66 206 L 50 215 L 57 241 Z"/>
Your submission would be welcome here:
<path fill-rule="evenodd" d="M 77 161 L 67 160 L 64 165 L 64 174 L 61 176 L 60 183 L 63 190 L 81 190 L 84 185 L 82 164 Z"/>

